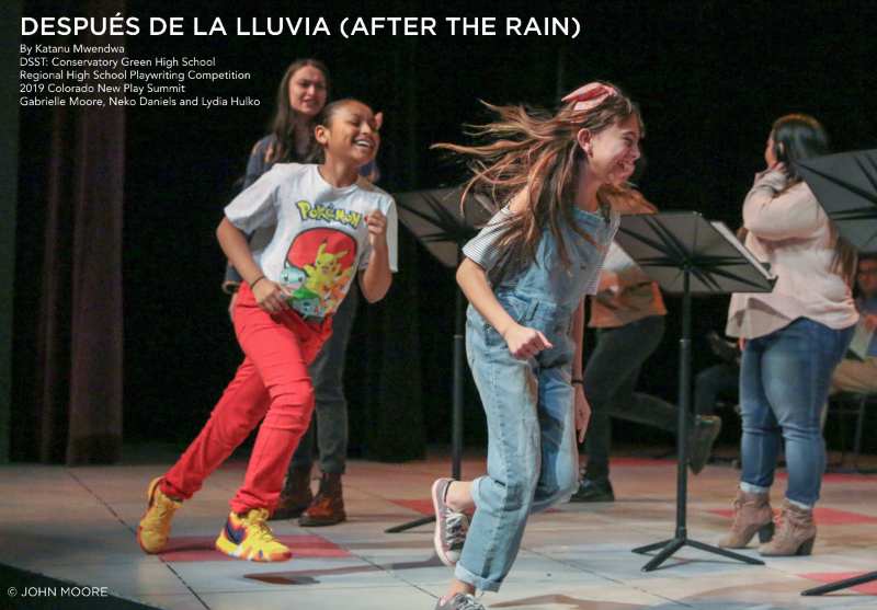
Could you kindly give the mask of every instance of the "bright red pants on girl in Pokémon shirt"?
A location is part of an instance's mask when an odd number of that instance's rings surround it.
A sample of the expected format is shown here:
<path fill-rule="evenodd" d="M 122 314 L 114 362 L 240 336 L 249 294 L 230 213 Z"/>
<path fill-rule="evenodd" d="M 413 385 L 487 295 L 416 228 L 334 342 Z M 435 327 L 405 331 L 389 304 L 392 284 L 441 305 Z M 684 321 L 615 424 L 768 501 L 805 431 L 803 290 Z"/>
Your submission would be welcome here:
<path fill-rule="evenodd" d="M 164 475 L 161 491 L 189 499 L 264 417 L 231 510 L 273 510 L 286 467 L 314 412 L 308 365 L 332 333 L 331 320 L 312 325 L 294 311 L 269 314 L 241 284 L 235 332 L 246 355 L 210 418 Z"/>

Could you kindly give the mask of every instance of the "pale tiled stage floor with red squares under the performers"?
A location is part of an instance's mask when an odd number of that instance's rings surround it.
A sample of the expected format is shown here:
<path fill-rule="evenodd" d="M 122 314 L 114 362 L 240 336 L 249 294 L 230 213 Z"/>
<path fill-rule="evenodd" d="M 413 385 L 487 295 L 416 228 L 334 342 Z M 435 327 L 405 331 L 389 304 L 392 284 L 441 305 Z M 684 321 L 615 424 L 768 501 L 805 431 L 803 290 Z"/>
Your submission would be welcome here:
<path fill-rule="evenodd" d="M 135 540 L 149 480 L 166 463 L 0 468 L 0 563 L 172 610 L 432 609 L 451 576 L 432 551 L 432 526 L 388 534 L 430 510 L 429 490 L 449 471 L 446 457 L 384 464 L 353 461 L 344 477 L 350 520 L 329 528 L 283 521 L 275 532 L 292 561 L 257 564 L 213 550 L 228 499 L 243 475 L 235 460 L 176 514 L 171 544 L 145 555 Z M 162 468 L 163 467 L 163 468 Z M 467 458 L 464 477 L 478 475 Z M 737 471 L 708 467 L 690 479 L 688 536 L 714 543 L 729 525 Z M 696 608 L 877 608 L 877 584 L 822 598 L 800 597 L 819 583 L 877 569 L 877 476 L 825 476 L 810 557 L 750 566 L 685 548 L 651 573 L 630 549 L 672 538 L 675 465 L 613 461 L 613 504 L 566 504 L 531 519 L 517 562 L 488 608 L 635 610 Z M 785 480 L 777 481 L 775 504 Z M 754 544 L 744 553 L 756 556 Z M 0 608 L 10 602 L 0 589 Z M 59 595 L 47 590 L 44 595 Z M 18 600 L 21 608 L 27 608 Z M 47 600 L 44 600 L 47 601 Z M 82 601 L 82 600 L 80 600 Z M 95 598 L 94 608 L 102 608 Z M 50 607 L 65 608 L 59 597 Z M 78 606 L 89 607 L 89 606 Z"/>

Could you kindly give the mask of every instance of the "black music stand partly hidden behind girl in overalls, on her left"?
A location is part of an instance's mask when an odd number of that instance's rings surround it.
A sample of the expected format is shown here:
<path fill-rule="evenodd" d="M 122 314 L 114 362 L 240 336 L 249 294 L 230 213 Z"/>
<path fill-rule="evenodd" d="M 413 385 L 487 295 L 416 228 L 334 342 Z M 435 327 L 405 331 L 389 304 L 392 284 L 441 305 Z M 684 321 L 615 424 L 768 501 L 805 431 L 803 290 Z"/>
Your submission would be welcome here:
<path fill-rule="evenodd" d="M 462 248 L 478 233 L 476 227 L 490 220 L 490 205 L 476 195 L 469 195 L 464 206 L 465 217 L 460 215 L 462 187 L 414 191 L 394 195 L 399 220 L 411 231 L 426 250 L 445 267 L 456 269 L 460 263 Z M 463 456 L 463 390 L 464 321 L 466 302 L 459 288 L 456 289 L 454 308 L 454 357 L 453 357 L 453 408 L 451 435 L 451 476 L 460 477 Z M 391 527 L 386 533 L 398 533 L 435 520 L 435 516 L 421 517 L 400 526 Z"/>

